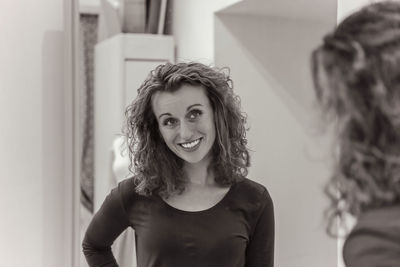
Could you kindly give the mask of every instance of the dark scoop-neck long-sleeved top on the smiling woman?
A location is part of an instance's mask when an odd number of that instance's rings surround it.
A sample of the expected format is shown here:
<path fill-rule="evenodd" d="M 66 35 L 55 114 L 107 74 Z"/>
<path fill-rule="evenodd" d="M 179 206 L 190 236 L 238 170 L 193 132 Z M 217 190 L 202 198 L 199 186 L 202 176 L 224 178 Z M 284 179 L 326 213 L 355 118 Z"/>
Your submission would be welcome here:
<path fill-rule="evenodd" d="M 118 266 L 111 245 L 135 230 L 138 267 L 272 267 L 274 212 L 266 188 L 244 179 L 203 211 L 182 211 L 161 197 L 119 183 L 91 221 L 83 252 L 89 266 Z"/>

